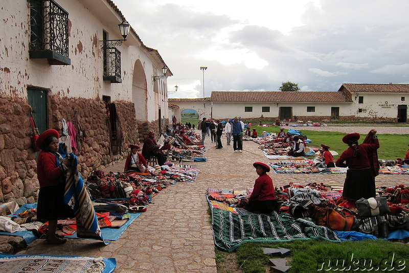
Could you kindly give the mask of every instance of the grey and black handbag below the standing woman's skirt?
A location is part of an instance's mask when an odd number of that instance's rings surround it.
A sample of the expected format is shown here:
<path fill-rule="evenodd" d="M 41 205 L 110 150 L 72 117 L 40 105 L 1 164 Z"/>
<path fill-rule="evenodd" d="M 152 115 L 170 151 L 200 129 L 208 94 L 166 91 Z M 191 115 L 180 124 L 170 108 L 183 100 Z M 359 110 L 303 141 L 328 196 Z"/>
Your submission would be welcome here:
<path fill-rule="evenodd" d="M 371 217 L 383 214 L 390 214 L 386 197 L 361 198 L 356 201 L 359 217 Z"/>

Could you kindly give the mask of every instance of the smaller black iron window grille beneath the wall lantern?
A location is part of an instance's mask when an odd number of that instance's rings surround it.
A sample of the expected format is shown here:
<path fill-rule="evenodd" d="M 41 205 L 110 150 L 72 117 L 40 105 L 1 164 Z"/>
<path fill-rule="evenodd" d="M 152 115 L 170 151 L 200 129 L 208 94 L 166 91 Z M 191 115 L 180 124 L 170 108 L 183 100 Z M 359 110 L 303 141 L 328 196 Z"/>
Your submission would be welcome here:
<path fill-rule="evenodd" d="M 105 48 L 104 80 L 120 83 L 121 79 L 121 52 L 117 48 Z"/>

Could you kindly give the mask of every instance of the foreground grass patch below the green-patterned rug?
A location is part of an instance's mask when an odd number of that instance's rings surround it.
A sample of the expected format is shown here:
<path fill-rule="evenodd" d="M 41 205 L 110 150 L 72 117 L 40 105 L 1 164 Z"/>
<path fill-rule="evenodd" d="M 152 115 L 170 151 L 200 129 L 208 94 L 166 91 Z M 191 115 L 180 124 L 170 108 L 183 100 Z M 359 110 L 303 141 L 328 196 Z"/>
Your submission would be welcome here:
<path fill-rule="evenodd" d="M 408 246 L 382 239 L 342 243 L 315 240 L 276 244 L 246 243 L 241 245 L 236 253 L 216 250 L 217 272 L 268 272 L 268 259 L 280 257 L 263 254 L 263 247 L 283 247 L 291 250 L 286 257 L 286 265 L 291 266 L 287 272 L 409 272 Z M 226 264 L 229 266 L 225 266 Z"/>

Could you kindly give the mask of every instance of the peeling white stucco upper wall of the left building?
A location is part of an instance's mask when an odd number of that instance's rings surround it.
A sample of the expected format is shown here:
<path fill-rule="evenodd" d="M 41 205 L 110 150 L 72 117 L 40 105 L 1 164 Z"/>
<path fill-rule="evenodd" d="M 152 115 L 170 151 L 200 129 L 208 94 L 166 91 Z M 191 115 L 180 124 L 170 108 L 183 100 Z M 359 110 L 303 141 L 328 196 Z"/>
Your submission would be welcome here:
<path fill-rule="evenodd" d="M 108 39 L 122 39 L 118 24 L 122 19 L 103 0 L 56 1 L 69 13 L 69 58 L 71 65 L 51 66 L 47 59 L 29 58 L 30 10 L 27 0 L 3 1 L 0 24 L 0 94 L 27 98 L 27 87 L 49 89 L 51 94 L 89 99 L 110 96 L 111 101 L 146 99 L 146 119 L 155 120 L 158 108 L 168 118 L 167 83 L 161 79 L 154 95 L 152 75 L 162 75 L 162 67 L 143 49 L 130 32 L 121 46 L 122 83 L 103 81 L 103 52 L 99 42 L 103 30 Z M 147 94 L 132 95 L 135 61 L 140 60 Z M 133 97 L 133 99 L 132 99 Z"/>

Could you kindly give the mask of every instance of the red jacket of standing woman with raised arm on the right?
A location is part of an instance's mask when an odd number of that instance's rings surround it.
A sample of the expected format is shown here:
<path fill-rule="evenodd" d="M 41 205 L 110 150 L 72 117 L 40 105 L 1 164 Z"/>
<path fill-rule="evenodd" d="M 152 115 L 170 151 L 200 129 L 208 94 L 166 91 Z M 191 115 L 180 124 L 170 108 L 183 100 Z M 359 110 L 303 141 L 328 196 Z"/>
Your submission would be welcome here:
<path fill-rule="evenodd" d="M 362 143 L 358 145 L 360 157 L 354 156 L 354 149 L 345 150 L 335 162 L 337 167 L 348 167 L 351 170 L 370 169 L 368 152 L 375 151 L 379 148 L 379 140 L 375 139 L 373 144 Z M 346 163 L 344 163 L 346 161 Z"/>

